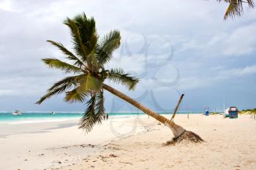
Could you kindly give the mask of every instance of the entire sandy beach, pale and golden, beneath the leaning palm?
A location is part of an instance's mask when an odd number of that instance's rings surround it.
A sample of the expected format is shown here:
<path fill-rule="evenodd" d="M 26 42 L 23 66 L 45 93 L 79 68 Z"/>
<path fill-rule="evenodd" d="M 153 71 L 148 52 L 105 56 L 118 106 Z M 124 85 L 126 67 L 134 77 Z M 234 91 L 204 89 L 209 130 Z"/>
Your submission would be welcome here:
<path fill-rule="evenodd" d="M 75 125 L 1 137 L 0 169 L 256 169 L 249 115 L 177 115 L 176 123 L 206 142 L 167 147 L 170 130 L 152 118 L 110 119 L 87 135 Z"/>

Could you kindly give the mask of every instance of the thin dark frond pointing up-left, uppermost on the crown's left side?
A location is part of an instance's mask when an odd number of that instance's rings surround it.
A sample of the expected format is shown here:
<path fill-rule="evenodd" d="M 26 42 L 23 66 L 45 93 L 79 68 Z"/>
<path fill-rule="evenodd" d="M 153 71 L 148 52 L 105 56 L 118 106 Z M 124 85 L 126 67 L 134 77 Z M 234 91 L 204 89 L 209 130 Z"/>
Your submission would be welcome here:
<path fill-rule="evenodd" d="M 67 48 L 64 47 L 64 45 L 62 45 L 61 43 L 53 42 L 51 40 L 47 40 L 47 42 L 50 42 L 51 45 L 54 45 L 55 47 L 58 47 L 59 50 L 62 51 L 62 53 L 67 55 L 68 59 L 70 59 L 72 61 L 75 61 L 75 65 L 78 65 L 79 67 L 85 65 L 82 61 L 80 61 L 80 58 L 76 57 L 73 53 L 71 53 L 69 50 L 67 50 Z"/>

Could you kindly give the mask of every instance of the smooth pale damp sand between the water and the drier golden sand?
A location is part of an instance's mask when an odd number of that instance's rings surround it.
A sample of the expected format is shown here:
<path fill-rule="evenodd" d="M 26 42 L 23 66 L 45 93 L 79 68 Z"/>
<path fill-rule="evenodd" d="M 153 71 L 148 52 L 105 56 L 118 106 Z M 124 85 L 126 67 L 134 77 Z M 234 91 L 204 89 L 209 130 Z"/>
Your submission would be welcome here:
<path fill-rule="evenodd" d="M 54 123 L 0 125 L 0 169 L 53 169 L 68 166 L 100 152 L 121 136 L 146 131 L 134 129 L 135 117 L 113 118 L 85 134 L 78 120 Z M 113 130 L 113 129 L 118 129 Z"/>

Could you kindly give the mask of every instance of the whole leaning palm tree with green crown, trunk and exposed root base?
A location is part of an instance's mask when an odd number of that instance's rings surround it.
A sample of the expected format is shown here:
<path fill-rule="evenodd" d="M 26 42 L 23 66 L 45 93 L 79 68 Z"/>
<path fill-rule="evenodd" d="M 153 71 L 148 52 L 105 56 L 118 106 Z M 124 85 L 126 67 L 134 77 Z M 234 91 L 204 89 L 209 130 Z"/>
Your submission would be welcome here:
<path fill-rule="evenodd" d="M 203 141 L 197 134 L 186 131 L 180 125 L 176 125 L 173 121 L 151 111 L 138 101 L 105 84 L 105 80 L 110 80 L 133 90 L 139 82 L 138 78 L 125 73 L 123 69 L 105 69 L 105 64 L 113 57 L 113 51 L 120 46 L 119 31 L 110 31 L 99 38 L 94 18 L 86 18 L 84 13 L 77 15 L 74 19 L 67 18 L 64 20 L 64 24 L 69 27 L 75 54 L 67 50 L 61 43 L 48 40 L 50 44 L 58 47 L 70 62 L 67 63 L 56 58 L 45 58 L 42 61 L 50 68 L 61 69 L 67 74 L 72 73 L 74 75 L 56 82 L 48 89 L 48 93 L 37 101 L 37 104 L 64 92 L 67 102 L 86 102 L 86 111 L 80 120 L 79 128 L 89 132 L 96 123 L 102 123 L 102 118 L 105 115 L 103 94 L 104 90 L 108 90 L 113 95 L 167 125 L 173 132 L 174 142 L 179 142 L 184 138 L 189 138 L 192 142 Z"/>

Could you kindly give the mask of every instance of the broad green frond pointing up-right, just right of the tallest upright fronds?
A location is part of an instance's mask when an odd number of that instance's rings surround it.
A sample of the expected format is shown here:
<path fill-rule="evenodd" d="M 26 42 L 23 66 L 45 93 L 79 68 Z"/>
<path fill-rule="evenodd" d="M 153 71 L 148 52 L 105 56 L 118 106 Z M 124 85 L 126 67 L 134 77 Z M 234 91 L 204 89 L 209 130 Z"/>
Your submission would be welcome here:
<path fill-rule="evenodd" d="M 97 60 L 100 65 L 104 65 L 112 58 L 113 51 L 120 46 L 121 35 L 117 30 L 110 31 L 98 43 L 96 48 Z"/>

